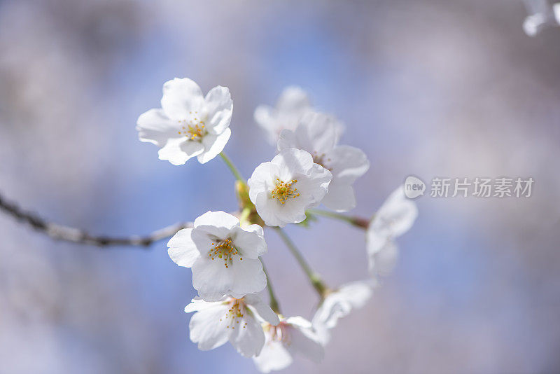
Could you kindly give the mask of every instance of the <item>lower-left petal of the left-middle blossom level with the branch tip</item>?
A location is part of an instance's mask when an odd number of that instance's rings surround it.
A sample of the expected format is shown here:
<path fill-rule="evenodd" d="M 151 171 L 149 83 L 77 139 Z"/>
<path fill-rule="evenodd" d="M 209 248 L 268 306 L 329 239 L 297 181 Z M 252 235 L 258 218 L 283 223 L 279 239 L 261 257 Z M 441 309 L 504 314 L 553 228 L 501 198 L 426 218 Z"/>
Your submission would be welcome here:
<path fill-rule="evenodd" d="M 202 256 L 195 261 L 192 269 L 193 287 L 204 300 L 220 300 L 230 293 L 234 275 L 232 269 L 226 268 L 221 259 L 211 260 L 208 256 Z"/>

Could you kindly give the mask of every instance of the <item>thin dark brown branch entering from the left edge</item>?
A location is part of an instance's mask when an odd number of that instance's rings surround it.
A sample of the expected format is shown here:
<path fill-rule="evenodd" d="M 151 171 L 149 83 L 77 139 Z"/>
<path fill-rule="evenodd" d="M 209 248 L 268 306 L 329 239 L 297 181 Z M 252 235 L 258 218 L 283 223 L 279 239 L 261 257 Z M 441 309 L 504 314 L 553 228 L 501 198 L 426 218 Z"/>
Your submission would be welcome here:
<path fill-rule="evenodd" d="M 85 230 L 71 228 L 69 226 L 58 225 L 49 222 L 38 214 L 26 212 L 14 202 L 9 202 L 0 194 L 0 209 L 13 216 L 14 219 L 29 224 L 40 233 L 48 235 L 54 240 L 62 240 L 76 244 L 94 245 L 97 247 L 113 247 L 113 246 L 137 246 L 149 247 L 152 243 L 159 240 L 172 237 L 182 228 L 192 228 L 192 222 L 176 223 L 172 226 L 162 228 L 145 236 L 132 235 L 129 237 L 110 237 L 106 235 L 91 235 Z"/>

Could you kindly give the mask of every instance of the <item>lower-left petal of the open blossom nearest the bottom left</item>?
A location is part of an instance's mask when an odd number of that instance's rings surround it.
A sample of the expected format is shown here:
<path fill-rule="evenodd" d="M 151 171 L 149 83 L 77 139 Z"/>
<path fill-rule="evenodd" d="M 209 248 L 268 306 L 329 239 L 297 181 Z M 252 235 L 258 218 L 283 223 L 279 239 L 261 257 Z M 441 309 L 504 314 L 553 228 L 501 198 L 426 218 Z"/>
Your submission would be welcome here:
<path fill-rule="evenodd" d="M 216 303 L 213 307 L 196 312 L 190 318 L 190 340 L 198 343 L 198 349 L 207 351 L 228 341 L 229 331 L 225 328 L 226 322 L 223 318 L 227 311 L 228 305 Z"/>

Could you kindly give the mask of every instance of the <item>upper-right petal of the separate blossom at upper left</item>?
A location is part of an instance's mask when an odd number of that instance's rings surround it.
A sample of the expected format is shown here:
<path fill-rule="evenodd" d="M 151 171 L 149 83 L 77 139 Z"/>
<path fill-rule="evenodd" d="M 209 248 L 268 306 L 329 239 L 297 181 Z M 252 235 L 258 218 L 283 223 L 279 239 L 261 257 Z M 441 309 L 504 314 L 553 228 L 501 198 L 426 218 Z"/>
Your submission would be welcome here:
<path fill-rule="evenodd" d="M 230 90 L 218 85 L 207 93 L 204 101 L 207 109 L 207 127 L 214 134 L 221 134 L 230 125 L 233 101 Z"/>

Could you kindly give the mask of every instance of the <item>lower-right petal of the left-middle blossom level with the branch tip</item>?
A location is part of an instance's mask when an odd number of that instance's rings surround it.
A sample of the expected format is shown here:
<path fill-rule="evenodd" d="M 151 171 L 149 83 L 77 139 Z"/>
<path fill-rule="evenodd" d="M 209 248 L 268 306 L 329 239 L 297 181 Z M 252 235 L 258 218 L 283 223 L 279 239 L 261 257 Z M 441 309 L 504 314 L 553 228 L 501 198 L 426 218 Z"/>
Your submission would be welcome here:
<path fill-rule="evenodd" d="M 262 271 L 262 263 L 258 259 L 243 258 L 240 260 L 236 256 L 230 268 L 225 270 L 231 271 L 232 282 L 228 293 L 235 298 L 241 298 L 248 293 L 260 292 L 267 286 L 267 277 Z"/>

